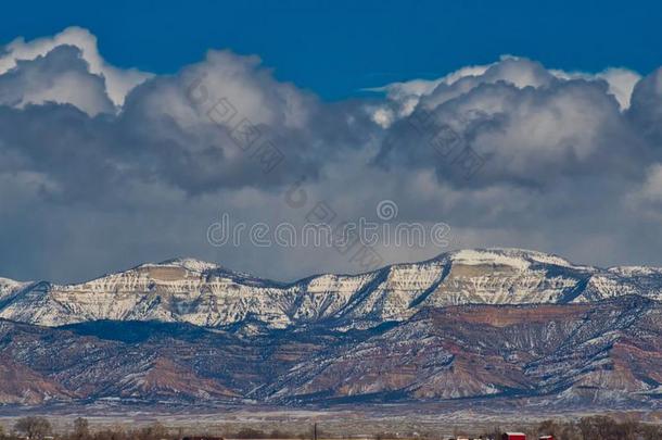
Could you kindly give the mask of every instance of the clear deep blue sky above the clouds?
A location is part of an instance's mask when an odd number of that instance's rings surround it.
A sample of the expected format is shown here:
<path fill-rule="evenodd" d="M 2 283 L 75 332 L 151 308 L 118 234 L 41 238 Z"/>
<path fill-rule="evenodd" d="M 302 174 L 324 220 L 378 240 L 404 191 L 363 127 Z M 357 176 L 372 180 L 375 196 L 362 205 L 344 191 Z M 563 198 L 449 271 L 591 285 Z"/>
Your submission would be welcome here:
<path fill-rule="evenodd" d="M 499 54 L 600 71 L 661 64 L 660 1 L 90 1 L 3 5 L 0 41 L 89 28 L 119 66 L 169 73 L 207 48 L 259 54 L 326 99 Z"/>

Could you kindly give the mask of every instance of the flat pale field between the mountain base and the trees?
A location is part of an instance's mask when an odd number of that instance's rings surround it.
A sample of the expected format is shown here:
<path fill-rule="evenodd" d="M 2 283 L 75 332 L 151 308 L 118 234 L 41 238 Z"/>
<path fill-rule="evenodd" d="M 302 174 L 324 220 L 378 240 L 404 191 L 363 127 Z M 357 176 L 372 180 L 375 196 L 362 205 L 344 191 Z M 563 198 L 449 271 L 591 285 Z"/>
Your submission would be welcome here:
<path fill-rule="evenodd" d="M 662 424 L 662 408 L 657 410 L 585 410 L 537 412 L 534 408 L 491 410 L 462 408 L 453 405 L 371 405 L 368 407 L 292 408 L 275 406 L 205 407 L 158 405 L 80 405 L 80 406 L 0 406 L 0 425 L 5 429 L 17 418 L 40 415 L 49 418 L 55 431 L 71 429 L 74 419 L 86 417 L 92 429 L 118 427 L 125 429 L 158 423 L 184 435 L 215 435 L 232 439 L 232 433 L 251 428 L 265 432 L 288 432 L 309 438 L 314 424 L 319 438 L 448 438 L 462 433 L 478 437 L 498 430 L 533 430 L 546 419 L 572 420 L 591 415 L 608 415 L 615 420 L 637 420 Z"/>

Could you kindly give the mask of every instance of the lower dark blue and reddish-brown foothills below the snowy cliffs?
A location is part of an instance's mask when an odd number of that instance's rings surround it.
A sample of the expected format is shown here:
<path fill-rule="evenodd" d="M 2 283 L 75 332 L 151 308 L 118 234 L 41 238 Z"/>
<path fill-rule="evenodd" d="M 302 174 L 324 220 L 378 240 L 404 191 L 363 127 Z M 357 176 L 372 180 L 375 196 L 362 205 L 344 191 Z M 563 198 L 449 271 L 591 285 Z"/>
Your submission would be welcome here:
<path fill-rule="evenodd" d="M 0 320 L 0 353 L 18 372 L 0 379 L 4 403 L 662 407 L 662 305 L 633 296 L 427 309 L 349 331 Z"/>

